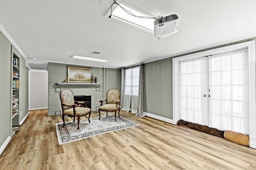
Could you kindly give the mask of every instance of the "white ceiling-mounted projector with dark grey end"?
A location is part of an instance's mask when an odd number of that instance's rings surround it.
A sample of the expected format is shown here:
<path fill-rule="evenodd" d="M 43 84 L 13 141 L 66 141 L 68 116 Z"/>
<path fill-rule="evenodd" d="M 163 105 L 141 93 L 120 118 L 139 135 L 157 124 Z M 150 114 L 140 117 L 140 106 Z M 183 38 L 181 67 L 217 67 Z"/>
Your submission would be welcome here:
<path fill-rule="evenodd" d="M 178 16 L 176 14 L 156 19 L 154 21 L 154 37 L 173 33 L 176 29 L 177 21 Z"/>

